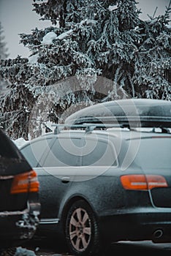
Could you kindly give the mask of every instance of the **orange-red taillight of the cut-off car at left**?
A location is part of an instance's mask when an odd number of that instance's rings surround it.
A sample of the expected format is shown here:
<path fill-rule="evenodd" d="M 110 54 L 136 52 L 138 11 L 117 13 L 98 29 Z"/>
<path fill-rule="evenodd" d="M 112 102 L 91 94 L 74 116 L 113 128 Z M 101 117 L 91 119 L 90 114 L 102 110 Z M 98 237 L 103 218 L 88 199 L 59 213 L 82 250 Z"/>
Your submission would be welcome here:
<path fill-rule="evenodd" d="M 11 194 L 38 191 L 39 181 L 37 179 L 37 173 L 34 170 L 18 174 L 12 181 Z"/>

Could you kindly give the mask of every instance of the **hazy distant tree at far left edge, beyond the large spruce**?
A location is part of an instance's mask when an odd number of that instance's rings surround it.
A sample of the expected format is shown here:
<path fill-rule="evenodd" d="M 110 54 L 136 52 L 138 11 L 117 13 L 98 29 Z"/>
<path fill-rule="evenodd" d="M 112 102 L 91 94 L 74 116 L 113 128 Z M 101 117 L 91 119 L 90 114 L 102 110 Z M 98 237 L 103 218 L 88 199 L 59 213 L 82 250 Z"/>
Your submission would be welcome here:
<path fill-rule="evenodd" d="M 7 53 L 7 43 L 5 42 L 4 40 L 4 30 L 1 26 L 1 23 L 0 23 L 0 59 L 7 59 L 8 57 L 8 53 Z M 5 81 L 3 78 L 1 78 L 1 75 L 0 75 L 0 97 L 1 95 L 3 95 L 5 93 L 5 91 L 7 91 L 7 86 L 8 86 L 8 83 L 7 81 Z"/>

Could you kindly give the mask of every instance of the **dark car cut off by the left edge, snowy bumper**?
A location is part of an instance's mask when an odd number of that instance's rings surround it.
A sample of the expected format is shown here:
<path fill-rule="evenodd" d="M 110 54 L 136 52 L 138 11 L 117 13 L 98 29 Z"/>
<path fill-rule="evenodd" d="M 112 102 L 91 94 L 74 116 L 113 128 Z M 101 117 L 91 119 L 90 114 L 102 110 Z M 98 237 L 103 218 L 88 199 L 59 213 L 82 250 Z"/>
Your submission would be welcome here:
<path fill-rule="evenodd" d="M 39 181 L 0 129 L 0 251 L 28 241 L 39 224 Z"/>

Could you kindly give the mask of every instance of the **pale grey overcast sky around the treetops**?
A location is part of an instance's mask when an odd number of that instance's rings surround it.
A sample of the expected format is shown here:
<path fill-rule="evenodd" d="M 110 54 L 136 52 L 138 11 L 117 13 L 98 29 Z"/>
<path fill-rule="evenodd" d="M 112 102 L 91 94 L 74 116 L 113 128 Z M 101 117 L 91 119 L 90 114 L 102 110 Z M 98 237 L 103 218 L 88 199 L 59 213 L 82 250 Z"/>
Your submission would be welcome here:
<path fill-rule="evenodd" d="M 153 15 L 156 7 L 156 15 L 164 14 L 169 2 L 170 0 L 139 0 L 137 7 L 142 11 L 140 18 L 147 20 L 148 15 Z M 39 20 L 40 16 L 32 11 L 32 3 L 32 0 L 0 0 L 0 22 L 4 29 L 4 42 L 7 42 L 8 58 L 30 55 L 28 48 L 19 44 L 19 34 L 31 34 L 31 29 L 51 26 L 50 22 Z"/>

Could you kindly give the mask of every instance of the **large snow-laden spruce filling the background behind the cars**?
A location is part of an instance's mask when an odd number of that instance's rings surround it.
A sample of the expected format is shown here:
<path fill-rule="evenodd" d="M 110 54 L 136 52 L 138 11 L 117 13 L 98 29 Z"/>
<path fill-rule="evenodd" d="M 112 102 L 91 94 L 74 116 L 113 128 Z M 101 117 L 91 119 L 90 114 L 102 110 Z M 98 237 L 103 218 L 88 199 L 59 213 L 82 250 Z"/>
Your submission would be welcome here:
<path fill-rule="evenodd" d="M 149 33 L 147 26 L 150 23 L 140 20 L 136 1 L 37 2 L 34 10 L 42 19 L 51 20 L 53 26 L 34 29 L 30 35 L 20 34 L 20 42 L 31 51 L 28 59 L 18 56 L 15 60 L 1 61 L 1 74 L 13 86 L 11 94 L 1 104 L 1 111 L 4 117 L 7 112 L 17 111 L 8 125 L 4 118 L 5 129 L 12 138 L 23 136 L 27 139 L 28 118 L 33 115 L 33 106 L 46 102 L 45 97 L 41 100 L 39 97 L 45 93 L 50 94 L 53 102 L 46 109 L 51 121 L 60 121 L 61 114 L 79 102 L 94 104 L 127 97 L 128 94 L 131 97 L 151 97 L 151 94 L 144 93 L 144 89 L 149 92 L 153 88 L 140 83 L 138 64 L 141 75 L 145 70 L 145 79 L 149 72 L 153 76 L 153 69 L 142 61 L 141 54 L 145 41 L 152 36 L 156 39 L 156 34 Z M 163 19 L 164 23 L 168 22 L 167 15 Z M 163 20 L 158 18 L 158 22 L 160 24 Z M 167 33 L 167 27 L 163 26 L 163 29 L 162 33 Z M 39 117 L 42 121 L 42 108 L 39 113 L 37 109 L 34 112 L 34 118 Z M 40 127 L 37 121 L 32 125 L 32 130 Z"/>

